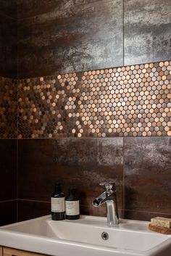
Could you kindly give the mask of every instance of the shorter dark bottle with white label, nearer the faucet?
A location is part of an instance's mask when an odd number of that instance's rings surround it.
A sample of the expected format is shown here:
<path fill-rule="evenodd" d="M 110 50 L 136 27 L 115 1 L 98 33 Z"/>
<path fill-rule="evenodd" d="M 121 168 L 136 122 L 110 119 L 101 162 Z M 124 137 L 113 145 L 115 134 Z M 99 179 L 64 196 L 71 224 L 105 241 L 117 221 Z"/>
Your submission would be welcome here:
<path fill-rule="evenodd" d="M 70 188 L 69 194 L 65 198 L 65 218 L 67 220 L 78 220 L 80 218 L 80 201 L 75 188 Z"/>

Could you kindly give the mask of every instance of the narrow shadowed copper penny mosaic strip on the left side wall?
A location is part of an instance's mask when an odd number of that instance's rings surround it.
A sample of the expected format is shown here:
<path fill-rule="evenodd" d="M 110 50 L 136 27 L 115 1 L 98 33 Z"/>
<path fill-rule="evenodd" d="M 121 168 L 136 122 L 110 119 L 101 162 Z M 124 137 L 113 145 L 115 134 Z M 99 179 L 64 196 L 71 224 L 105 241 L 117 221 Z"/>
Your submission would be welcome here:
<path fill-rule="evenodd" d="M 0 138 L 17 138 L 17 80 L 0 77 Z"/>

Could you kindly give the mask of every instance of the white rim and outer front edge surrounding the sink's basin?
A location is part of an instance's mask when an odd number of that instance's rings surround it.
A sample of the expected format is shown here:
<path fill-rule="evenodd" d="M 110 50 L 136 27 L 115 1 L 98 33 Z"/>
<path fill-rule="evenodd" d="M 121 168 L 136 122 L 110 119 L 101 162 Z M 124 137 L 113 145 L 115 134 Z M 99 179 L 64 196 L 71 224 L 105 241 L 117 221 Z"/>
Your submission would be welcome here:
<path fill-rule="evenodd" d="M 138 233 L 148 233 L 154 236 L 164 236 L 166 239 L 164 241 L 162 241 L 162 243 L 157 244 L 155 247 L 152 247 L 149 250 L 146 251 L 141 251 L 141 250 L 135 250 L 135 249 L 123 249 L 120 247 L 109 247 L 109 246 L 103 246 L 103 245 L 96 245 L 96 244 L 90 244 L 90 243 L 86 243 L 86 242 L 80 242 L 80 241 L 70 241 L 70 240 L 66 240 L 66 239 L 55 239 L 53 237 L 48 237 L 48 236 L 43 236 L 43 235 L 38 235 L 38 234 L 28 234 L 25 232 L 21 232 L 21 231 L 12 231 L 10 230 L 10 227 L 14 227 L 14 226 L 20 226 L 22 225 L 22 223 L 30 223 L 33 221 L 37 221 L 37 220 L 51 220 L 51 215 L 46 215 L 43 217 L 39 217 L 39 218 L 34 218 L 31 220 L 24 220 L 22 222 L 19 223 L 12 223 L 6 226 L 1 226 L 0 227 L 0 245 L 2 246 L 7 246 L 7 247 L 13 247 L 16 249 L 25 249 L 25 250 L 30 250 L 29 248 L 29 243 L 27 240 L 29 241 L 34 241 L 35 247 L 34 252 L 38 252 L 38 253 L 46 253 L 49 255 L 54 255 L 54 256 L 64 256 L 64 254 L 62 253 L 62 249 L 60 250 L 60 255 L 59 254 L 54 254 L 54 249 L 50 249 L 49 247 L 65 247 L 65 249 L 67 247 L 70 247 L 70 249 L 73 249 L 74 251 L 79 249 L 82 249 L 81 252 L 83 252 L 83 250 L 86 252 L 85 256 L 88 255 L 88 253 L 92 252 L 88 252 L 88 250 L 92 250 L 94 252 L 98 252 L 97 255 L 101 255 L 104 256 L 104 253 L 100 253 L 100 252 L 106 252 L 105 255 L 112 255 L 114 252 L 120 252 L 120 254 L 118 255 L 122 255 L 123 252 L 127 251 L 127 255 L 146 255 L 146 256 L 151 256 L 154 255 L 154 252 L 157 252 L 157 249 L 159 249 L 161 247 L 161 244 L 163 246 L 167 246 L 168 243 L 171 243 L 171 235 L 163 235 L 163 234 L 157 234 L 153 231 L 149 231 L 149 229 L 146 228 L 146 230 L 141 230 L 138 231 L 133 230 L 131 228 L 127 228 L 126 231 L 132 231 L 132 232 L 138 232 Z M 104 217 L 97 217 L 97 216 L 90 216 L 90 215 L 80 215 L 80 220 L 76 221 L 74 220 L 75 223 L 81 223 L 81 220 L 83 221 L 95 221 L 96 223 L 100 221 L 100 223 L 103 223 L 104 226 L 103 228 L 107 228 L 107 230 L 109 229 L 119 229 L 120 231 L 125 231 L 125 228 L 122 226 L 116 226 L 116 227 L 108 227 L 107 226 L 107 218 Z M 54 220 L 51 220 L 54 221 Z M 74 223 L 73 220 L 62 220 L 62 222 L 70 222 L 70 223 Z M 125 223 L 136 223 L 139 226 L 143 226 L 146 225 L 146 227 L 148 227 L 149 222 L 148 221 L 143 221 L 143 220 L 126 220 L 126 219 L 120 219 L 120 224 L 124 225 Z M 84 223 L 85 224 L 85 223 Z M 88 224 L 87 224 L 88 225 Z M 1 237 L 4 236 L 4 239 L 1 239 Z M 21 239 L 24 242 L 24 246 L 21 244 Z M 13 241 L 13 243 L 12 243 Z M 19 243 L 20 241 L 20 243 Z M 25 244 L 26 242 L 26 244 Z M 1 244 L 3 243 L 3 244 Z M 28 243 L 28 244 L 27 244 Z M 45 247 L 46 244 L 46 247 Z M 51 246 L 49 246 L 49 244 L 51 244 Z M 32 244 L 33 247 L 33 244 Z M 79 248 L 79 249 L 78 249 Z M 73 252 L 73 253 L 76 253 Z M 66 254 L 65 254 L 66 255 Z M 77 255 L 77 254 L 76 254 Z M 81 254 L 83 255 L 83 253 Z M 95 255 L 95 254 L 93 254 Z"/>

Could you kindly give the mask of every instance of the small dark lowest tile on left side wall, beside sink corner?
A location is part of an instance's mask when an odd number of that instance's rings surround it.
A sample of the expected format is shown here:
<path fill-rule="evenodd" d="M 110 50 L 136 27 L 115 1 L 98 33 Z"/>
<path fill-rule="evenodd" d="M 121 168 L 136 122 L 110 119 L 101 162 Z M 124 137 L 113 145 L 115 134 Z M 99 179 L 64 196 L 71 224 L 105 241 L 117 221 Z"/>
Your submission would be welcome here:
<path fill-rule="evenodd" d="M 0 226 L 17 221 L 17 200 L 0 202 Z"/>

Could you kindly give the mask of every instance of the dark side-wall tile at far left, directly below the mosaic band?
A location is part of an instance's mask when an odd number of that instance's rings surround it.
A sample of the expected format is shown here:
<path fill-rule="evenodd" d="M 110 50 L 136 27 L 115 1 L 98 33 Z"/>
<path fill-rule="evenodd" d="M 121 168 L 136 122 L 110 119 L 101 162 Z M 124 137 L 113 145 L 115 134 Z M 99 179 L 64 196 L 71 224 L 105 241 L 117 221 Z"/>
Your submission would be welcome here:
<path fill-rule="evenodd" d="M 17 140 L 0 140 L 0 202 L 17 197 Z"/>

